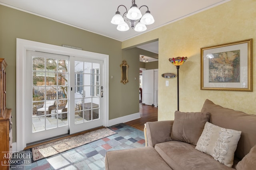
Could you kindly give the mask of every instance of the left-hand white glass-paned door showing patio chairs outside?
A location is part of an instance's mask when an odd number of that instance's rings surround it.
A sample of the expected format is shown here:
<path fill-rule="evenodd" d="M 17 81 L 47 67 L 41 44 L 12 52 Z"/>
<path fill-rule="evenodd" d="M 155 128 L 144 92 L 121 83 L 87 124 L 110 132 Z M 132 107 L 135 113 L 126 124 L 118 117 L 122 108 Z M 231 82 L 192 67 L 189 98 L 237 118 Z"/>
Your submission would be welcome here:
<path fill-rule="evenodd" d="M 69 57 L 27 51 L 26 143 L 68 133 Z"/>

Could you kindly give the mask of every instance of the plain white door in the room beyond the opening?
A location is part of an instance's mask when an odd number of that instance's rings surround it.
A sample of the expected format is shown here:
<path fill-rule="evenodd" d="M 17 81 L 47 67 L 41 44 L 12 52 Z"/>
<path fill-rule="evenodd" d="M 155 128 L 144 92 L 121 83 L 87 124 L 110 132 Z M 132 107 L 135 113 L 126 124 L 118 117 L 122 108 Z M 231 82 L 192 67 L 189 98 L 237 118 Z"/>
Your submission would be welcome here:
<path fill-rule="evenodd" d="M 142 103 L 154 105 L 154 70 L 142 71 Z"/>

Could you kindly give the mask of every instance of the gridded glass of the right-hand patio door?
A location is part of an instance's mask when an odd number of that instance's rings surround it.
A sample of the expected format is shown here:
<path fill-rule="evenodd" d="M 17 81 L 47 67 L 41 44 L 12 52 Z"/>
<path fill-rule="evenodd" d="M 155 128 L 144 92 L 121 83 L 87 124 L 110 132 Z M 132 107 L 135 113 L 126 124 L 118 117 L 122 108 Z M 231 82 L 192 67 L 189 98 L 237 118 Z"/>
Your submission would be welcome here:
<path fill-rule="evenodd" d="M 99 118 L 100 64 L 75 61 L 75 124 Z"/>

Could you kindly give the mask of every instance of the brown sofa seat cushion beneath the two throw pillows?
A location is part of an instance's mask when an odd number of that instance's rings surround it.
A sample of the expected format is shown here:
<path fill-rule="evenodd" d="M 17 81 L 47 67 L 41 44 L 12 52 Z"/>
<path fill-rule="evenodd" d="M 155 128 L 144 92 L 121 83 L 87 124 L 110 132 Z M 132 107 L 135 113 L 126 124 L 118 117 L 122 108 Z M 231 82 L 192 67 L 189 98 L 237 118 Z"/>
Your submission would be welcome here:
<path fill-rule="evenodd" d="M 232 170 L 189 143 L 168 141 L 156 144 L 155 149 L 174 170 Z"/>

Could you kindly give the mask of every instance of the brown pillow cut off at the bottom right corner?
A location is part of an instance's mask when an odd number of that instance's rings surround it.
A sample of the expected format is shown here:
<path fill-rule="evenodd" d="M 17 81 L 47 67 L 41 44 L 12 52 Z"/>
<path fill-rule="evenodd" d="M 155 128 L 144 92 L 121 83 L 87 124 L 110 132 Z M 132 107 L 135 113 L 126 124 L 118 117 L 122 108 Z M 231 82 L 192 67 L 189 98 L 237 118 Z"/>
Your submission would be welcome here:
<path fill-rule="evenodd" d="M 244 156 L 244 158 L 238 162 L 237 170 L 255 170 L 256 168 L 256 145 L 252 147 L 250 152 Z"/>

